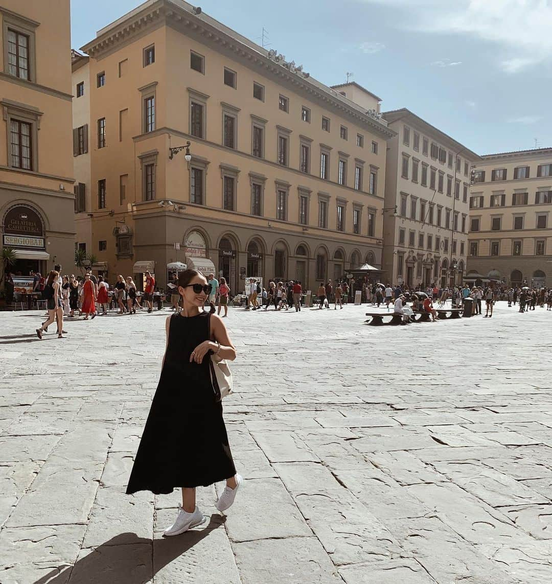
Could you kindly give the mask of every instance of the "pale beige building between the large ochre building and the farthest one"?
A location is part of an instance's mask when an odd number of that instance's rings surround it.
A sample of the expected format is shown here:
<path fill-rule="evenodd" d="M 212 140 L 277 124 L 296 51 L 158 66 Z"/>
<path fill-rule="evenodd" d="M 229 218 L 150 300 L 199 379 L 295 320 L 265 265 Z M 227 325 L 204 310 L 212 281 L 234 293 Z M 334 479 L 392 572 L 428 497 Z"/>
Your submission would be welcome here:
<path fill-rule="evenodd" d="M 383 277 L 410 287 L 461 284 L 479 157 L 408 109 L 383 117 L 397 133 L 387 149 Z"/>

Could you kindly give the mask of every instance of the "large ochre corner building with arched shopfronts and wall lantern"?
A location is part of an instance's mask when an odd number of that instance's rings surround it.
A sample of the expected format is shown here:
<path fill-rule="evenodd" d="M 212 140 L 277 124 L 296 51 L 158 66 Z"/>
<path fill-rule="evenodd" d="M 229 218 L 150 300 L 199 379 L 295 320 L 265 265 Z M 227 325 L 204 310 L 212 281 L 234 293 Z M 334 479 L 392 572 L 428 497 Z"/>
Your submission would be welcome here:
<path fill-rule="evenodd" d="M 374 106 L 180 0 L 146 2 L 90 57 L 91 252 L 159 286 L 185 262 L 315 290 L 381 264 L 387 140 Z M 78 100 L 77 100 L 78 101 Z M 190 161 L 185 147 L 190 142 Z M 78 177 L 77 177 L 77 180 Z M 179 249 L 175 249 L 178 244 Z M 88 246 L 87 246 L 88 248 Z"/>

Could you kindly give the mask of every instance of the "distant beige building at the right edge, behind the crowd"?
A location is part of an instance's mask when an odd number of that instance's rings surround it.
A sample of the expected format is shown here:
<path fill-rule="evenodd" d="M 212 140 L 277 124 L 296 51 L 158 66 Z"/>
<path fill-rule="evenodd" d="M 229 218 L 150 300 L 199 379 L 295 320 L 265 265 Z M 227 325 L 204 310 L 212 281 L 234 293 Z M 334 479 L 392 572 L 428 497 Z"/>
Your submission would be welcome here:
<path fill-rule="evenodd" d="M 468 272 L 552 285 L 552 148 L 485 155 L 470 196 Z"/>

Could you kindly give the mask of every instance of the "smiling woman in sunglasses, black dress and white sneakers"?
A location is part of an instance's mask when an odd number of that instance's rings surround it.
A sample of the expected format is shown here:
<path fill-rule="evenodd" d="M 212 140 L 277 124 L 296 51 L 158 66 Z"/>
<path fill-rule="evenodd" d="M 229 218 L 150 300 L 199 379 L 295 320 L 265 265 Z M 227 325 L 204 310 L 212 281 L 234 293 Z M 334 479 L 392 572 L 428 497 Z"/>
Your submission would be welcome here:
<path fill-rule="evenodd" d="M 127 486 L 127 495 L 182 488 L 182 507 L 165 536 L 205 522 L 196 506 L 197 486 L 225 480 L 217 502 L 225 511 L 242 482 L 228 445 L 220 393 L 210 377 L 211 354 L 233 361 L 236 350 L 223 321 L 201 310 L 209 296 L 207 280 L 186 270 L 179 274 L 178 290 L 183 308 L 166 319 L 161 378 Z"/>

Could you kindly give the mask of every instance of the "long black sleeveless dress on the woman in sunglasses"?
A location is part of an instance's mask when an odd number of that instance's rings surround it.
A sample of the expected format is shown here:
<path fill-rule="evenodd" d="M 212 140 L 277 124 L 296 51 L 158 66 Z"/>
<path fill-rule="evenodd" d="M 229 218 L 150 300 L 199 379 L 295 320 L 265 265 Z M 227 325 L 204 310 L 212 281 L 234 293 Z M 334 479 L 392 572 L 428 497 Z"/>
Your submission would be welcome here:
<path fill-rule="evenodd" d="M 209 312 L 173 314 L 157 391 L 130 474 L 127 495 L 171 493 L 179 487 L 209 486 L 235 475 L 223 420 L 209 373 L 190 363 L 197 345 L 210 339 Z"/>

